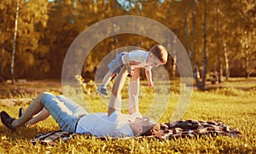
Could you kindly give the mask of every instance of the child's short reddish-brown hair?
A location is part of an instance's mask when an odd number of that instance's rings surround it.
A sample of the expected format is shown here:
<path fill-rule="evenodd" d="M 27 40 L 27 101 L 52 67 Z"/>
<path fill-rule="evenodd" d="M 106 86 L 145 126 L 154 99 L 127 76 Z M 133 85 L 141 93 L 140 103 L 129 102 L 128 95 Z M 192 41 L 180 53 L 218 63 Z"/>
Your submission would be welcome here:
<path fill-rule="evenodd" d="M 154 56 L 156 56 L 156 58 L 158 58 L 161 63 L 166 64 L 168 53 L 164 46 L 154 45 L 154 47 L 152 47 L 149 52 L 154 54 Z"/>

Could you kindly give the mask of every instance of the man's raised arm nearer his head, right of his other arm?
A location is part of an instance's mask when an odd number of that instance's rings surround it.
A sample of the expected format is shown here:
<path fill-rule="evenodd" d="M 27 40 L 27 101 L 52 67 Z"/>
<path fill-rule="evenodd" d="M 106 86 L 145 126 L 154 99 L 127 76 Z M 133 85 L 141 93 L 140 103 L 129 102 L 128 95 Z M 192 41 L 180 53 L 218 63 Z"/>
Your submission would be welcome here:
<path fill-rule="evenodd" d="M 141 116 L 138 109 L 138 96 L 140 91 L 140 68 L 134 69 L 134 74 L 131 76 L 131 82 L 128 88 L 129 94 L 129 113 L 130 114 L 138 114 Z"/>

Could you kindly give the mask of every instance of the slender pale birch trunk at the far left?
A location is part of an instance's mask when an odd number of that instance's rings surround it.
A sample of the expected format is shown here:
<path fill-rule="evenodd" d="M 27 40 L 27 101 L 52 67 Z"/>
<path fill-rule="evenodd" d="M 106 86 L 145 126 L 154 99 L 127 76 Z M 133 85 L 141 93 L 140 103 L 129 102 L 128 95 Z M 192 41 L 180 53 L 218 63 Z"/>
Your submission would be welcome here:
<path fill-rule="evenodd" d="M 11 61 L 11 68 L 10 68 L 11 76 L 12 76 L 12 84 L 15 83 L 15 48 L 16 48 L 18 19 L 19 19 L 19 0 L 17 0 L 17 7 L 16 7 L 14 48 L 13 48 L 13 52 L 12 52 L 12 61 Z"/>

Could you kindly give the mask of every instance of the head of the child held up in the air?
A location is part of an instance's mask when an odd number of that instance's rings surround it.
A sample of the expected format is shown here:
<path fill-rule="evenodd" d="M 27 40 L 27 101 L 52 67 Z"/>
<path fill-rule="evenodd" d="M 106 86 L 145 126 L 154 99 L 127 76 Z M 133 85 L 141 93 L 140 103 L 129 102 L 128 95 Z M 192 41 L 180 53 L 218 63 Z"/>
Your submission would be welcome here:
<path fill-rule="evenodd" d="M 168 53 L 164 46 L 154 45 L 154 47 L 149 50 L 148 64 L 151 66 L 165 65 L 167 57 Z"/>

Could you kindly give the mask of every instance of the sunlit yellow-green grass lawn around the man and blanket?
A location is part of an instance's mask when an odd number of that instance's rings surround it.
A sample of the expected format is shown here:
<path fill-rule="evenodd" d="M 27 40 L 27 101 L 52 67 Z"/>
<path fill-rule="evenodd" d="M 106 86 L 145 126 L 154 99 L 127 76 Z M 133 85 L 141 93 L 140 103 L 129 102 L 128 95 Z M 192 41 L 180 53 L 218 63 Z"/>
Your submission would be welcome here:
<path fill-rule="evenodd" d="M 31 89 L 33 85 L 28 84 Z M 43 84 L 43 83 L 42 83 Z M 44 83 L 46 84 L 46 83 Z M 38 85 L 38 83 L 37 83 Z M 58 94 L 60 83 L 50 84 L 41 90 L 48 90 Z M 175 85 L 177 85 L 175 83 Z M 7 88 L 1 85 L 2 89 Z M 243 137 L 231 138 L 228 136 L 201 137 L 199 139 L 172 139 L 172 140 L 96 140 L 84 139 L 76 136 L 67 142 L 59 142 L 55 146 L 32 145 L 29 142 L 36 134 L 59 130 L 58 125 L 50 117 L 42 123 L 29 128 L 19 128 L 15 133 L 10 132 L 0 124 L 0 153 L 255 153 L 256 152 L 256 79 L 247 81 L 244 78 L 232 79 L 222 83 L 222 88 L 200 92 L 193 91 L 189 107 L 183 119 L 195 120 L 221 120 L 230 128 L 238 128 Z M 36 87 L 36 86 L 35 86 Z M 254 88 L 253 88 L 254 87 Z M 26 88 L 26 86 L 24 87 Z M 87 85 L 90 94 L 85 95 L 87 106 L 92 111 L 107 111 L 105 103 L 107 99 L 99 98 L 95 89 Z M 126 88 L 125 88 L 126 89 Z M 169 122 L 172 112 L 175 110 L 179 96 L 178 87 L 172 86 L 172 92 L 168 106 L 166 107 L 160 122 Z M 11 90 L 10 90 L 11 91 Z M 38 90 L 39 92 L 40 90 Z M 124 98 L 125 90 L 123 92 Z M 35 93 L 9 94 L 2 98 L 35 97 Z M 163 97 L 165 95 L 163 94 Z M 144 114 L 152 105 L 154 89 L 142 86 L 140 110 Z M 5 110 L 11 116 L 17 117 L 20 106 L 26 108 L 27 102 L 17 103 L 15 106 L 3 105 L 0 102 L 0 110 Z M 83 106 L 83 104 L 82 104 Z"/>

